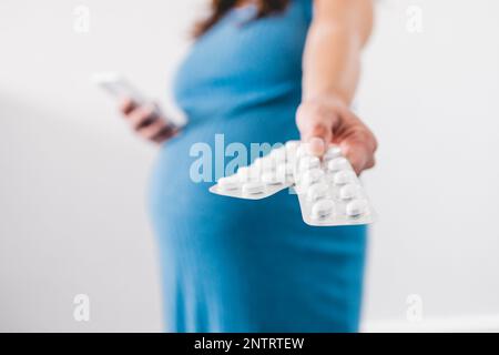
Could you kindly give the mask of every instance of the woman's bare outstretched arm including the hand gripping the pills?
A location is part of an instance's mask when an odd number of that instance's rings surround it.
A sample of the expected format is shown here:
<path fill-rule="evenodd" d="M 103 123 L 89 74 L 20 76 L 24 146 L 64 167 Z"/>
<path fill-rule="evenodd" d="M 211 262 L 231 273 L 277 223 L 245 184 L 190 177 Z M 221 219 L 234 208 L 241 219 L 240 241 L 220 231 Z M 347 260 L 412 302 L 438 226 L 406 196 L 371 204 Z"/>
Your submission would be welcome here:
<path fill-rule="evenodd" d="M 313 152 L 342 146 L 357 173 L 374 165 L 377 143 L 349 110 L 359 78 L 360 52 L 373 28 L 371 0 L 314 0 L 303 60 L 303 102 L 297 124 Z"/>

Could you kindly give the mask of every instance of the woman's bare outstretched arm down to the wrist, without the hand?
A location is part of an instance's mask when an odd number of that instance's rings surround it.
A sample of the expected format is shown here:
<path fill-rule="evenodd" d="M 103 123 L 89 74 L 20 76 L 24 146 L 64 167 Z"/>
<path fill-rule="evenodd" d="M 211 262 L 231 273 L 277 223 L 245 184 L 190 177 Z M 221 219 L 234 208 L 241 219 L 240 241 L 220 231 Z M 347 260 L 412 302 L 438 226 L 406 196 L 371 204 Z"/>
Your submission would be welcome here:
<path fill-rule="evenodd" d="M 315 0 L 304 53 L 304 100 L 337 95 L 350 103 L 360 51 L 373 28 L 371 0 Z"/>

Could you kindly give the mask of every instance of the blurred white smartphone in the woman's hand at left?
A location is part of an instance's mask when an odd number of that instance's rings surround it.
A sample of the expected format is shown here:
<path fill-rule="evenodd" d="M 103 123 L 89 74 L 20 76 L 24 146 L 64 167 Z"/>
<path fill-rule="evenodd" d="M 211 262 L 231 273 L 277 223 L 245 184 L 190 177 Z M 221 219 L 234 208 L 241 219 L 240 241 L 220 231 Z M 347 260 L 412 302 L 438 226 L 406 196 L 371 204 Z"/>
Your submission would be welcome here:
<path fill-rule="evenodd" d="M 132 99 L 138 105 L 146 104 L 150 102 L 134 85 L 130 83 L 122 74 L 114 72 L 95 73 L 91 78 L 92 82 L 103 89 L 105 92 L 114 97 L 116 100 L 124 98 Z M 172 129 L 180 129 L 187 123 L 185 114 L 180 110 L 175 114 L 175 119 L 169 118 L 167 124 Z M 161 108 L 154 104 L 154 112 L 159 116 L 166 118 L 163 114 Z"/>

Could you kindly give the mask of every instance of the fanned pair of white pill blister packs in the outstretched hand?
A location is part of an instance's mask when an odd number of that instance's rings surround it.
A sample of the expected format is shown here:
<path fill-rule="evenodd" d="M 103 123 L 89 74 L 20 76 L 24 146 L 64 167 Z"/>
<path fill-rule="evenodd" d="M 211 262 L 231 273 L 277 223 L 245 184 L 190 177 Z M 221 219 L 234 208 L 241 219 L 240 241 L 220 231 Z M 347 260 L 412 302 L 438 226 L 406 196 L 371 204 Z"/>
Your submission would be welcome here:
<path fill-rule="evenodd" d="M 332 145 L 322 159 L 306 144 L 289 141 L 249 166 L 218 180 L 211 192 L 241 199 L 264 199 L 293 187 L 305 223 L 314 226 L 369 224 L 376 219 L 350 163 Z"/>

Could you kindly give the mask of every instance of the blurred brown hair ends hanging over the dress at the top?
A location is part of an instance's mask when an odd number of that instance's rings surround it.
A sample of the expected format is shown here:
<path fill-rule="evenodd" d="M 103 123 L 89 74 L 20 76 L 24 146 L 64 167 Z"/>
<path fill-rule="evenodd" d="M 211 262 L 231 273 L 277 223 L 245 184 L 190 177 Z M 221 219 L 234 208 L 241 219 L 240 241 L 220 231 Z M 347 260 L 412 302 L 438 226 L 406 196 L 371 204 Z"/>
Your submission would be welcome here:
<path fill-rule="evenodd" d="M 194 27 L 194 37 L 198 38 L 206 33 L 216 22 L 218 22 L 228 10 L 237 4 L 238 0 L 212 0 L 211 13 L 208 17 Z M 264 18 L 272 13 L 278 13 L 286 9 L 289 0 L 255 0 L 256 16 L 255 19 Z"/>

